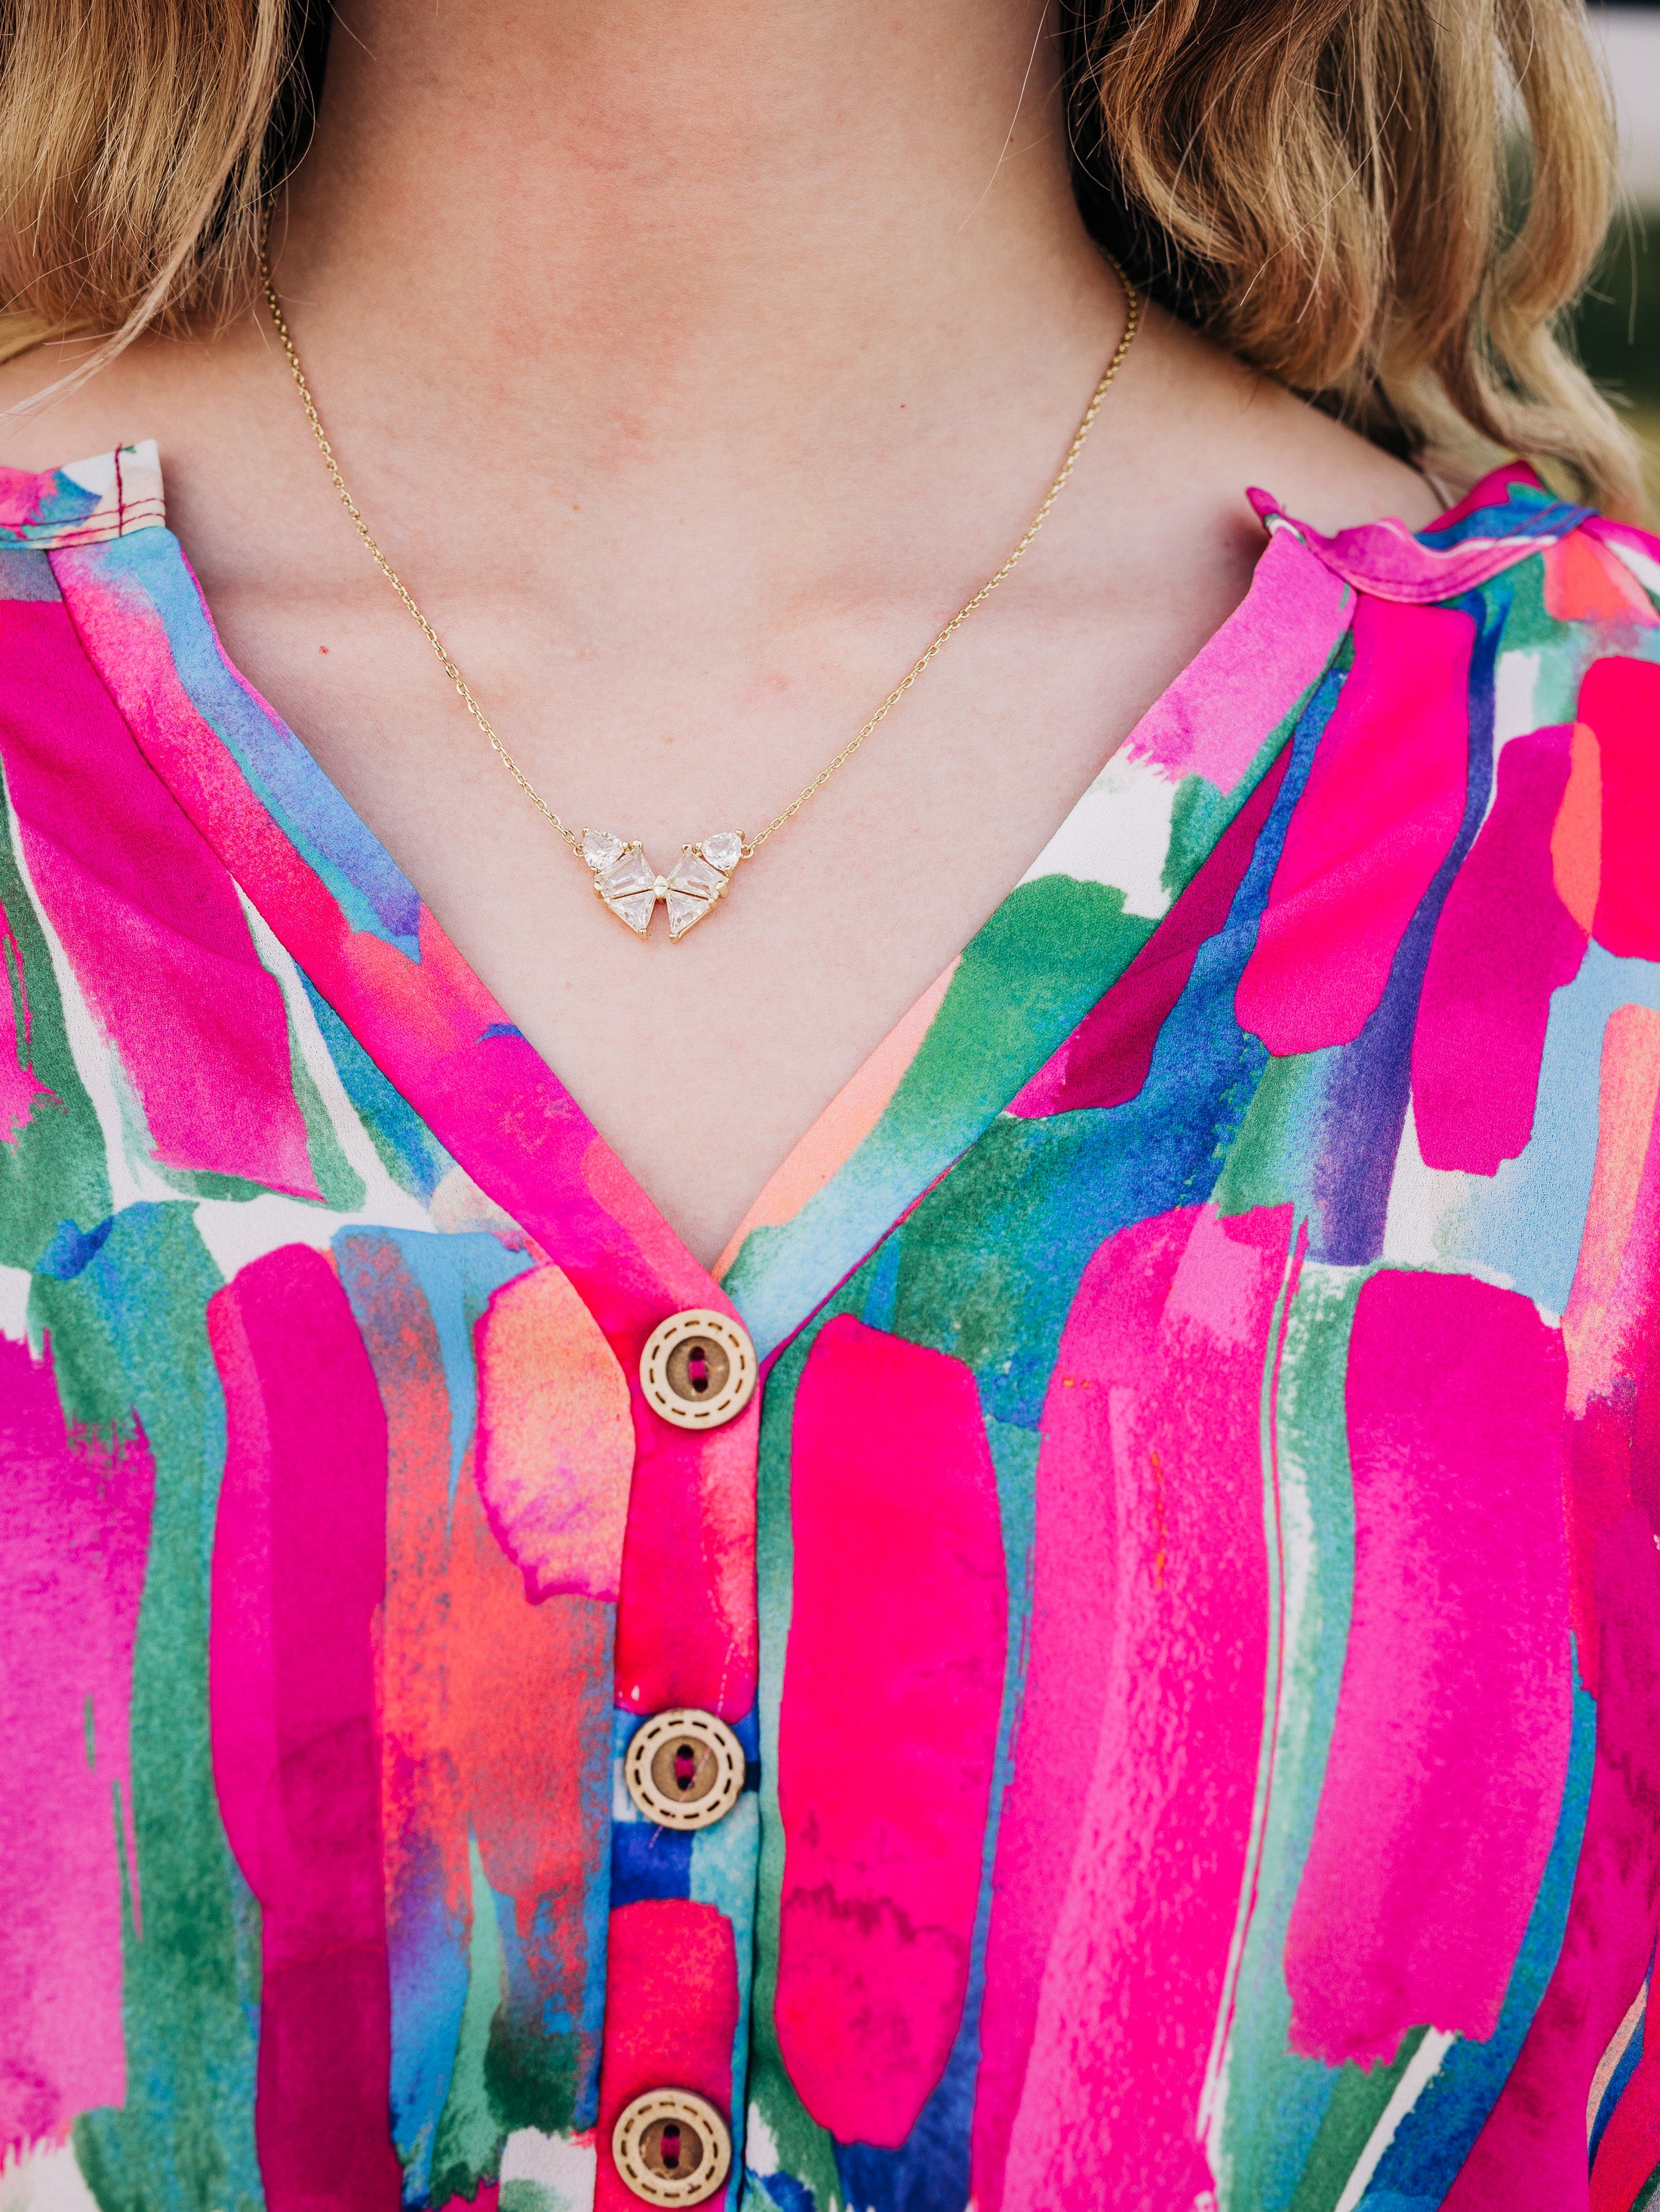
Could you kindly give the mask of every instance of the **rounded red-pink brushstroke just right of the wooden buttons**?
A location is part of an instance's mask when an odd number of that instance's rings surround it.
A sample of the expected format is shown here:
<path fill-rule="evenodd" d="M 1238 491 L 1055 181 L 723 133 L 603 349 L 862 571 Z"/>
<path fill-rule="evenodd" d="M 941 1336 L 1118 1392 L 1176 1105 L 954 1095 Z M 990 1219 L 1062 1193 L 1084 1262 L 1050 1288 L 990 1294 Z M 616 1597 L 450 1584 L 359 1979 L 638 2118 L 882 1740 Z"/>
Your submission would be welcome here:
<path fill-rule="evenodd" d="M 778 2048 L 820 2126 L 895 2146 L 962 2022 L 1004 1697 L 973 1374 L 827 1323 L 796 1389 L 789 1513 Z"/>

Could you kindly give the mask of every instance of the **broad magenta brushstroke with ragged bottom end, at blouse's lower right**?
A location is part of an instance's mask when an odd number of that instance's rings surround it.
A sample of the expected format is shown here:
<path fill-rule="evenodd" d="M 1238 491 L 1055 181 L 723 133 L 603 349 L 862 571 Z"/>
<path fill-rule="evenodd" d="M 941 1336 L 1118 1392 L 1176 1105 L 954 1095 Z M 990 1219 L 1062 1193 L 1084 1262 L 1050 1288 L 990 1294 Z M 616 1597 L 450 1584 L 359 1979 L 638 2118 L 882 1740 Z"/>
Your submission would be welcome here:
<path fill-rule="evenodd" d="M 1291 2046 L 1328 2066 L 1499 2024 L 1567 1772 L 1563 1387 L 1516 1292 L 1390 1270 L 1359 1294 L 1355 1608 L 1286 1933 Z"/>

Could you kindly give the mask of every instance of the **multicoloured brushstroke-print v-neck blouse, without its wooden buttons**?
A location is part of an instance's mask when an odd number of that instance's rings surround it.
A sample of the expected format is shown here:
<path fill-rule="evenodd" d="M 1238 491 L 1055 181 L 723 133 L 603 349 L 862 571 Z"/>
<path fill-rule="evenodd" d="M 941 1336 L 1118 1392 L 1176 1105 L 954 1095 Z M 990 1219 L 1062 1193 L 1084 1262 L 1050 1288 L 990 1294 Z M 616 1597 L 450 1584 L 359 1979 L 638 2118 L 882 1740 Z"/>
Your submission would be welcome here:
<path fill-rule="evenodd" d="M 1647 2201 L 1660 546 L 1253 498 L 710 1274 L 155 449 L 0 473 L 7 2212 Z"/>

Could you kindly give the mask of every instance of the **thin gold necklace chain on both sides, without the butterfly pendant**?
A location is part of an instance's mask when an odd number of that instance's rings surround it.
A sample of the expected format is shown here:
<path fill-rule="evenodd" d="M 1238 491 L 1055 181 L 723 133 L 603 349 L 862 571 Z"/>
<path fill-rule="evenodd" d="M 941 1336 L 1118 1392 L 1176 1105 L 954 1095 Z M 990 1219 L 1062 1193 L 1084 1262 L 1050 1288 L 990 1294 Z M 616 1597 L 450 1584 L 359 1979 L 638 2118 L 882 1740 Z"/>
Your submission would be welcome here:
<path fill-rule="evenodd" d="M 1083 409 L 1083 420 L 1079 422 L 1079 427 L 1076 427 L 1076 431 L 1072 436 L 1072 445 L 1065 449 L 1065 460 L 1061 462 L 1054 482 L 1043 493 L 1043 504 L 1037 509 L 1037 513 L 1032 515 L 1032 520 L 1026 524 L 1026 531 L 1021 533 L 1019 544 L 1010 551 L 1010 555 L 1004 562 L 1004 566 L 997 568 L 995 575 L 988 575 L 986 582 L 975 593 L 975 597 L 966 599 L 957 608 L 957 613 L 950 617 L 950 622 L 933 637 L 933 641 L 906 668 L 906 672 L 900 677 L 900 681 L 893 686 L 893 690 L 886 695 L 886 699 L 878 706 L 878 710 L 871 714 L 871 719 L 847 741 L 847 745 L 842 745 L 842 750 L 836 754 L 833 761 L 829 761 L 824 768 L 820 768 L 820 772 L 813 776 L 811 783 L 802 785 L 802 790 L 796 792 L 796 796 L 789 801 L 789 805 L 782 810 L 782 814 L 774 814 L 774 818 L 767 823 L 767 827 L 758 836 L 754 836 L 754 838 L 749 838 L 745 843 L 745 847 L 743 847 L 745 860 L 752 860 L 760 852 L 760 847 L 767 843 L 767 838 L 774 834 L 774 830 L 782 830 L 787 821 L 794 821 L 800 814 L 800 810 L 807 805 L 807 801 L 813 799 L 818 792 L 824 790 L 824 785 L 836 774 L 836 770 L 844 768 L 853 759 L 853 754 L 860 750 L 860 745 L 864 743 L 864 739 L 871 737 L 871 732 L 878 730 L 889 719 L 889 714 L 893 712 L 893 708 L 900 703 L 900 699 L 904 699 L 904 695 L 911 690 L 911 686 L 917 681 L 917 677 L 924 672 L 924 668 L 942 650 L 942 646 L 946 644 L 946 639 L 955 637 L 957 630 L 964 626 L 964 622 L 968 622 L 968 617 L 975 613 L 975 608 L 984 606 L 984 602 L 990 599 L 990 595 L 1008 577 L 1008 573 L 1015 568 L 1015 564 L 1019 562 L 1019 557 L 1026 553 L 1026 549 L 1030 546 L 1030 542 L 1037 538 L 1037 533 L 1048 522 L 1050 509 L 1054 507 L 1054 502 L 1065 491 L 1068 478 L 1072 476 L 1072 469 L 1079 462 L 1079 453 L 1083 451 L 1083 440 L 1090 436 L 1090 429 L 1094 427 L 1094 418 L 1101 414 L 1101 403 L 1107 396 L 1107 387 L 1112 385 L 1112 378 L 1123 367 L 1123 358 L 1130 352 L 1130 345 L 1134 343 L 1136 330 L 1141 327 L 1141 294 L 1130 283 L 1130 279 L 1125 276 L 1123 268 L 1118 268 L 1118 263 L 1116 263 L 1116 259 L 1112 254 L 1103 254 L 1103 259 L 1107 261 L 1107 265 L 1112 268 L 1114 276 L 1123 285 L 1123 294 L 1125 294 L 1125 327 L 1123 327 L 1123 336 L 1118 338 L 1118 343 L 1116 343 L 1116 347 L 1112 352 L 1112 361 L 1101 372 L 1101 383 L 1094 387 L 1090 405 Z M 553 827 L 559 832 L 559 836 L 566 841 L 566 845 L 577 854 L 577 858 L 581 858 L 581 834 L 577 830 L 572 830 L 559 814 L 555 814 L 555 810 L 548 805 L 548 801 L 542 796 L 542 792 L 535 787 L 535 783 L 530 783 L 530 779 L 526 776 L 526 772 L 519 768 L 519 763 L 513 759 L 513 754 L 508 752 L 508 748 L 495 734 L 495 726 L 491 723 L 491 717 L 484 712 L 484 708 L 473 697 L 473 692 L 471 692 L 471 688 L 466 684 L 466 677 L 455 666 L 455 661 L 453 661 L 453 657 L 449 653 L 449 646 L 444 644 L 444 639 L 438 635 L 438 630 L 431 626 L 431 622 L 427 619 L 427 615 L 416 604 L 416 595 L 409 591 L 409 586 L 402 582 L 402 577 L 398 575 L 398 571 L 391 566 L 391 562 L 387 560 L 387 555 L 380 551 L 380 544 L 376 542 L 369 524 L 363 520 L 363 509 L 358 507 L 358 502 L 347 491 L 347 482 L 340 476 L 340 462 L 334 458 L 334 447 L 329 445 L 329 436 L 323 429 L 323 416 L 316 411 L 316 400 L 312 398 L 312 387 L 305 380 L 305 369 L 301 367 L 301 356 L 298 356 L 298 349 L 294 347 L 294 336 L 292 336 L 292 332 L 287 327 L 287 316 L 283 314 L 283 303 L 276 296 L 276 285 L 272 281 L 270 208 L 265 210 L 265 228 L 261 230 L 261 237 L 259 237 L 259 279 L 261 279 L 261 285 L 265 290 L 265 305 L 272 312 L 272 323 L 276 325 L 276 336 L 279 336 L 279 341 L 283 345 L 283 354 L 287 356 L 290 376 L 294 378 L 294 385 L 296 385 L 296 389 L 301 394 L 301 405 L 305 407 L 305 420 L 312 425 L 312 436 L 316 438 L 316 449 L 323 456 L 323 467 L 329 471 L 329 480 L 334 482 L 334 489 L 340 493 L 340 504 L 351 515 L 351 526 L 356 529 L 358 538 L 363 540 L 363 544 L 365 544 L 369 557 L 374 560 L 376 568 L 385 575 L 385 580 L 391 584 L 391 588 L 398 593 L 398 597 L 402 599 L 402 604 L 409 608 L 409 613 L 420 624 L 420 635 L 433 648 L 433 653 L 438 657 L 438 666 L 444 670 L 444 675 L 449 677 L 449 681 L 455 686 L 455 692 L 458 692 L 462 706 L 473 717 L 473 721 L 480 726 L 480 730 L 484 732 L 484 737 L 491 741 L 491 750 L 495 752 L 495 757 L 502 761 L 502 765 L 506 768 L 506 772 L 519 785 L 519 790 L 524 792 L 524 796 L 537 807 L 539 814 L 546 816 L 546 821 L 553 823 Z"/>

